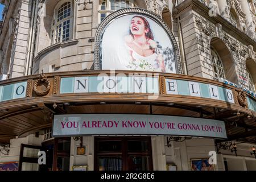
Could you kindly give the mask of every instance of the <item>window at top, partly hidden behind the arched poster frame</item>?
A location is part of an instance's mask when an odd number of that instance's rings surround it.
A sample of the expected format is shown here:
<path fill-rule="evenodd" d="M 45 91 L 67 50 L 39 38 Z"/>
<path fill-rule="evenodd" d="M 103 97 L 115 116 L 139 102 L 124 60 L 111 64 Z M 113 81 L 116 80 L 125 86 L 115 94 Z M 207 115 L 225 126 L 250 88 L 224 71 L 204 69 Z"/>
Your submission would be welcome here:
<path fill-rule="evenodd" d="M 141 7 L 146 9 L 146 3 L 143 0 L 100 0 L 99 23 L 113 11 L 128 7 Z"/>

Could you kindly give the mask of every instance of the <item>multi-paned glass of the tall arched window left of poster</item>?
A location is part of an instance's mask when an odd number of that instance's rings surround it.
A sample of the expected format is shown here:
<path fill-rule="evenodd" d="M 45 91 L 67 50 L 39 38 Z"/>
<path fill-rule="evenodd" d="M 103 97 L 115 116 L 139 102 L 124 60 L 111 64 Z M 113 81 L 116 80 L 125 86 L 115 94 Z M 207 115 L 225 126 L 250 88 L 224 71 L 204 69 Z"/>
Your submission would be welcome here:
<path fill-rule="evenodd" d="M 52 44 L 68 41 L 71 37 L 71 2 L 65 2 L 56 11 L 56 24 L 53 19 Z M 54 38 L 54 41 L 53 41 Z"/>

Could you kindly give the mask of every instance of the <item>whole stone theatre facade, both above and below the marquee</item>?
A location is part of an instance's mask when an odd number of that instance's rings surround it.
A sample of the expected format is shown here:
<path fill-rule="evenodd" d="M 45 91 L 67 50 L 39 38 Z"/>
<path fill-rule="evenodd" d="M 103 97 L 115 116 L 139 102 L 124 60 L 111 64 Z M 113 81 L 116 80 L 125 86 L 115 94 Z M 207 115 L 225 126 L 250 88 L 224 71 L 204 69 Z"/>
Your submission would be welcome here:
<path fill-rule="evenodd" d="M 102 20 L 115 10 L 137 7 L 159 16 L 170 28 L 179 47 L 179 73 L 228 82 L 255 93 L 256 1 L 254 0 L 1 0 L 6 5 L 0 27 L 2 80 L 40 73 L 94 69 L 95 35 Z M 249 91 L 249 92 L 250 92 Z M 44 134 L 46 135 L 46 133 Z M 45 137 L 45 136 L 44 136 Z M 20 143 L 38 144 L 33 134 L 11 140 L 10 156 L 18 160 Z M 43 137 L 42 137 L 42 140 Z M 70 166 L 88 164 L 93 170 L 94 139 L 84 137 L 85 156 L 71 150 Z M 151 137 L 153 169 L 190 170 L 189 159 L 216 150 L 214 139 L 172 142 Z M 242 163 L 239 169 L 256 170 L 249 142 L 238 145 L 238 158 L 230 151 L 218 155 L 218 170 Z M 79 142 L 71 140 L 71 148 Z M 12 151 L 13 150 L 13 151 Z M 246 166 L 247 165 L 247 166 Z M 32 169 L 27 166 L 27 169 Z"/>

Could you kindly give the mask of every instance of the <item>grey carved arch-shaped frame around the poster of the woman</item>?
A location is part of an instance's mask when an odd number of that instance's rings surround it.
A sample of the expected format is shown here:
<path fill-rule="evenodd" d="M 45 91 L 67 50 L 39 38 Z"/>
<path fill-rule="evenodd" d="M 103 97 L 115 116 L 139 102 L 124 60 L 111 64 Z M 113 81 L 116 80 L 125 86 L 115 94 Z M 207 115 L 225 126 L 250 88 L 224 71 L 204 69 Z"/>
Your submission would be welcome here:
<path fill-rule="evenodd" d="M 94 48 L 94 69 L 98 70 L 101 69 L 101 36 L 105 31 L 105 27 L 112 22 L 113 19 L 117 18 L 118 16 L 124 15 L 124 14 L 130 14 L 130 13 L 143 13 L 147 16 L 149 16 L 152 19 L 155 19 L 156 22 L 158 22 L 161 26 L 165 28 L 165 30 L 168 32 L 168 35 L 170 36 L 170 39 L 172 43 L 174 44 L 174 55 L 175 55 L 175 61 L 178 67 L 178 71 L 182 70 L 179 68 L 182 68 L 182 65 L 180 63 L 180 55 L 179 55 L 179 48 L 176 43 L 175 36 L 172 34 L 170 28 L 167 26 L 166 23 L 163 22 L 162 18 L 160 16 L 144 9 L 140 8 L 127 8 L 127 9 L 120 9 L 117 11 L 114 11 L 109 16 L 107 16 L 100 24 L 96 31 L 95 35 L 95 48 Z M 179 72 L 182 74 L 181 72 Z"/>

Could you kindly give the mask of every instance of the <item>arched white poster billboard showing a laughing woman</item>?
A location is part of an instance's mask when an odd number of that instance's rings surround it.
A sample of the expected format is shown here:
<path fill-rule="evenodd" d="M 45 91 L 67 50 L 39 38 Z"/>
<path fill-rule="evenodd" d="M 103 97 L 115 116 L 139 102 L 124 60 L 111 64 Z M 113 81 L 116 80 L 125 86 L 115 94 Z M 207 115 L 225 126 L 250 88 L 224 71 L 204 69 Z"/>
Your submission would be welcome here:
<path fill-rule="evenodd" d="M 104 27 L 100 47 L 101 69 L 176 73 L 171 35 L 152 16 L 116 16 Z"/>

